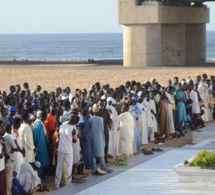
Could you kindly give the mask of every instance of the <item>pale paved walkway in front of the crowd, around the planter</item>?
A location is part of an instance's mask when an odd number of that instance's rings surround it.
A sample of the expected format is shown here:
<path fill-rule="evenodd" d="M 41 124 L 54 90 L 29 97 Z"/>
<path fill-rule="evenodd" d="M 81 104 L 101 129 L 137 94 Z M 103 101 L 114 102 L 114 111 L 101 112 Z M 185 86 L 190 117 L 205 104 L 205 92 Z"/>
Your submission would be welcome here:
<path fill-rule="evenodd" d="M 211 128 L 211 127 L 210 127 Z M 214 125 L 215 130 L 215 125 Z M 157 195 L 157 194 L 215 194 L 215 184 L 179 183 L 174 166 L 194 157 L 200 150 L 215 150 L 215 138 L 182 148 L 164 148 L 153 155 L 138 155 L 127 166 L 113 166 L 106 176 L 89 176 L 85 184 L 71 184 L 50 195 Z"/>

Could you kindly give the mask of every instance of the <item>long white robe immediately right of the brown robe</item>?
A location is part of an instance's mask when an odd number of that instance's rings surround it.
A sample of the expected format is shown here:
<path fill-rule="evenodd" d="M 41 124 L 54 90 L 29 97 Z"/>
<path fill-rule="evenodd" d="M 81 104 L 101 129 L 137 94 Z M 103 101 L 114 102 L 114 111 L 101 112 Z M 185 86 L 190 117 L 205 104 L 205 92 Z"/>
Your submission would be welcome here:
<path fill-rule="evenodd" d="M 168 101 L 167 111 L 168 111 L 169 133 L 172 134 L 172 133 L 175 133 L 173 110 L 172 110 L 172 105 L 174 102 L 169 93 L 165 92 L 165 94 L 166 94 L 167 101 Z"/>

